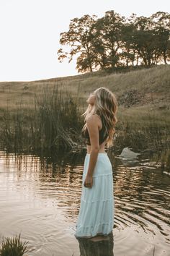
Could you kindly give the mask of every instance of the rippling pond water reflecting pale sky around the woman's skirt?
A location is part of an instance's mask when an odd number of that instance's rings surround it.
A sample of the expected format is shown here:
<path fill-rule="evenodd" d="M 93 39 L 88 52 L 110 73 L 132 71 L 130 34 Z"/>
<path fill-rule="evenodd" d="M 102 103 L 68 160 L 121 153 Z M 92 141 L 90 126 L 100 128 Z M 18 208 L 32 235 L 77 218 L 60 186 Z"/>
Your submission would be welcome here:
<path fill-rule="evenodd" d="M 84 155 L 0 153 L 0 238 L 21 233 L 29 256 L 169 256 L 170 176 L 151 159 L 112 163 L 115 225 L 108 240 L 74 236 Z"/>

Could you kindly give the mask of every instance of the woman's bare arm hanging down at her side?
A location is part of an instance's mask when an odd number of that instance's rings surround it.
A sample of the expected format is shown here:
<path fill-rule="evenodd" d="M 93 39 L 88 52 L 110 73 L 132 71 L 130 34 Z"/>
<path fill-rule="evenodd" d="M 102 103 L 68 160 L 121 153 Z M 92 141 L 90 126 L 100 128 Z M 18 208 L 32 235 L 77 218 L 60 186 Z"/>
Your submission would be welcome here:
<path fill-rule="evenodd" d="M 97 156 L 99 153 L 99 118 L 97 115 L 89 116 L 86 120 L 87 129 L 89 132 L 91 142 L 91 153 L 89 159 L 89 168 L 86 174 L 84 185 L 86 187 L 92 187 L 92 176 L 94 173 L 94 167 L 97 163 Z M 89 185 L 90 184 L 90 185 Z"/>

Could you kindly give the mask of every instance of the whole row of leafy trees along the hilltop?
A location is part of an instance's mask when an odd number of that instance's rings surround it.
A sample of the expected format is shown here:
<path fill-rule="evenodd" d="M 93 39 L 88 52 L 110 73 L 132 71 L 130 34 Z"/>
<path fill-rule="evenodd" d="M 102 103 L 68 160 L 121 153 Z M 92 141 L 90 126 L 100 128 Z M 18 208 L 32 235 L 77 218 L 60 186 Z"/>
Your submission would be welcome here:
<path fill-rule="evenodd" d="M 58 60 L 77 56 L 78 72 L 114 67 L 167 64 L 170 61 L 170 14 L 125 18 L 115 11 L 104 17 L 84 15 L 71 20 L 69 30 L 60 34 Z"/>

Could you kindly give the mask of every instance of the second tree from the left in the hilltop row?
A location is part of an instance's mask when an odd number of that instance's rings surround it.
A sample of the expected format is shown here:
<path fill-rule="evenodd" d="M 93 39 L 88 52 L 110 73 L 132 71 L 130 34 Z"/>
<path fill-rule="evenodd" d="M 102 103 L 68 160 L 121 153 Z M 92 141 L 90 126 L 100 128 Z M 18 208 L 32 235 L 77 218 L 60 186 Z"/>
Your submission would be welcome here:
<path fill-rule="evenodd" d="M 100 69 L 118 66 L 123 20 L 124 17 L 112 10 L 105 12 L 104 17 L 94 22 L 91 27 L 91 43 L 96 54 L 96 64 Z"/>

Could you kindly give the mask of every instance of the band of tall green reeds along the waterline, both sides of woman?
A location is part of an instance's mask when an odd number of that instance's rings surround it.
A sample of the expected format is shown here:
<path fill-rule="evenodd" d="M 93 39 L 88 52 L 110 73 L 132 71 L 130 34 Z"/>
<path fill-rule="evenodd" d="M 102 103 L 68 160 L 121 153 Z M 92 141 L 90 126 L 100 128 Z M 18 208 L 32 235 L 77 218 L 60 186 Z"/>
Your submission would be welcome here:
<path fill-rule="evenodd" d="M 6 150 L 71 150 L 85 146 L 81 137 L 84 120 L 81 116 L 86 106 L 79 88 L 68 90 L 61 84 L 39 85 L 30 106 L 15 105 L 13 111 L 4 110 L 1 118 L 1 148 Z M 83 109 L 84 108 L 84 109 Z M 143 112 L 144 113 L 144 112 Z M 156 112 L 157 113 L 157 112 Z M 119 113 L 118 113 L 119 114 Z M 133 150 L 164 150 L 169 148 L 169 122 L 158 121 L 156 116 L 134 111 L 118 116 L 114 145 L 111 150 L 129 147 Z M 127 118 L 125 119 L 125 117 Z"/>

